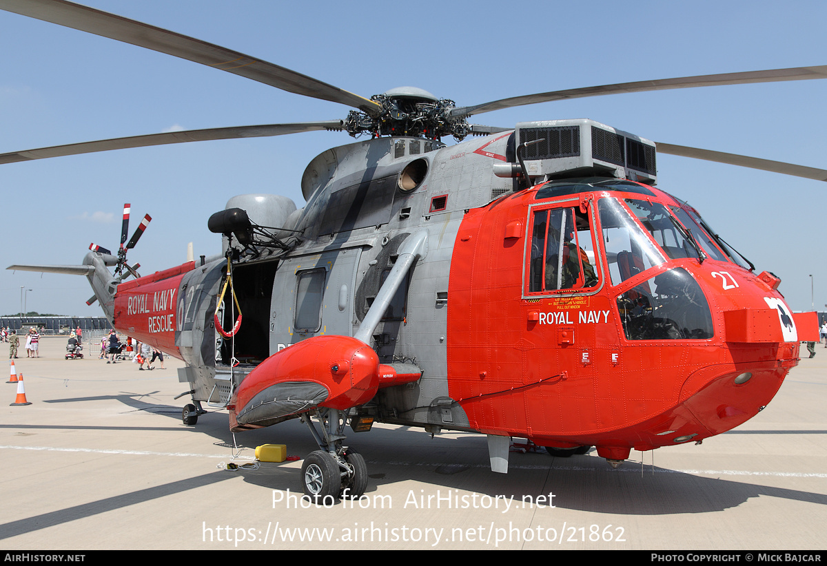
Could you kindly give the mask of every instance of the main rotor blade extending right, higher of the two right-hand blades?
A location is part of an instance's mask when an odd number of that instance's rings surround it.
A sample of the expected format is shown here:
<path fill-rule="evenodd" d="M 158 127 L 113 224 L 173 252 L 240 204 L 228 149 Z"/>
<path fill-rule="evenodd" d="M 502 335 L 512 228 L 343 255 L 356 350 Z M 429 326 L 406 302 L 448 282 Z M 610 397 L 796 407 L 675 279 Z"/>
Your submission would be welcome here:
<path fill-rule="evenodd" d="M 451 111 L 451 116 L 468 117 L 472 114 L 492 112 L 494 110 L 524 106 L 526 104 L 552 102 L 566 100 L 568 98 L 597 97 L 604 94 L 645 93 L 652 90 L 715 87 L 723 84 L 776 83 L 779 81 L 809 80 L 812 78 L 827 78 L 827 65 L 767 71 L 748 71 L 746 73 L 705 74 L 697 77 L 662 78 L 660 80 L 638 81 L 636 83 L 605 84 L 600 87 L 570 88 L 568 90 L 557 90 L 550 93 L 527 94 L 521 97 L 503 98 L 493 102 L 485 102 L 485 104 L 478 104 L 477 106 L 454 108 Z"/>

